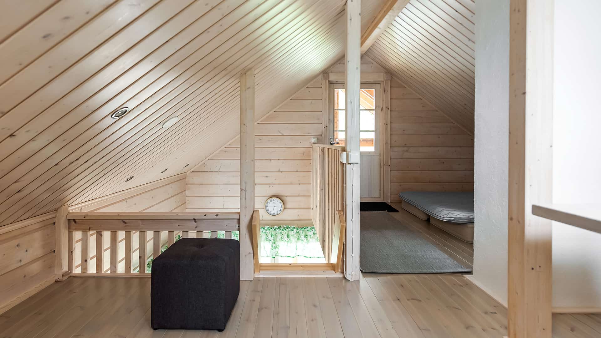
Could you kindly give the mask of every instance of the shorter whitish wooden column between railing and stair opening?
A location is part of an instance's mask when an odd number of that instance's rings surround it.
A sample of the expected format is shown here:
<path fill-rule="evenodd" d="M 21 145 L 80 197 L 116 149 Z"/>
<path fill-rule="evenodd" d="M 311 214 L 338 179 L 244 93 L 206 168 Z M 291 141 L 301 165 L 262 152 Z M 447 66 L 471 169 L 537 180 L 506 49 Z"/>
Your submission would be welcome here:
<path fill-rule="evenodd" d="M 240 279 L 252 280 L 252 212 L 255 206 L 255 78 L 240 77 Z"/>

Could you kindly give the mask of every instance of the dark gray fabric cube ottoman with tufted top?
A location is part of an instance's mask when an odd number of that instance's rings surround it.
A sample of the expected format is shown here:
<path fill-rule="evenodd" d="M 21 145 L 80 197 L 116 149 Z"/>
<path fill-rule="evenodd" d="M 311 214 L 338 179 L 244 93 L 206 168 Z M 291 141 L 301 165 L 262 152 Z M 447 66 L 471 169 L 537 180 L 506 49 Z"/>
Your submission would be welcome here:
<path fill-rule="evenodd" d="M 240 292 L 240 243 L 182 238 L 152 262 L 154 330 L 224 330 Z"/>

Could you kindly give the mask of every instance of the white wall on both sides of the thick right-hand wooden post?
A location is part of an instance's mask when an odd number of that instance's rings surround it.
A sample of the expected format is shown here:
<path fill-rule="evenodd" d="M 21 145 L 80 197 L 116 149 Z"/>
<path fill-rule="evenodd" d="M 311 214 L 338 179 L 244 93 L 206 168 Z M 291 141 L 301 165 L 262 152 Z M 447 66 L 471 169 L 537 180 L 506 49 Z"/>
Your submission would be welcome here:
<path fill-rule="evenodd" d="M 476 2 L 474 281 L 507 305 L 509 0 Z M 555 0 L 554 202 L 601 203 L 598 0 Z M 554 307 L 601 307 L 601 235 L 554 224 Z"/>

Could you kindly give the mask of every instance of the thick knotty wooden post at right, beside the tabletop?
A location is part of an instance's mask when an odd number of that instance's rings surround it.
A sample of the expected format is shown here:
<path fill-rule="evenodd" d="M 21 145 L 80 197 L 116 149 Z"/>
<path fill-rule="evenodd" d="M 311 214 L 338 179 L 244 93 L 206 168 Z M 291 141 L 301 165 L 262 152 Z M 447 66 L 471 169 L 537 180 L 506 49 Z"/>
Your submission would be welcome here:
<path fill-rule="evenodd" d="M 508 331 L 551 338 L 552 224 L 532 204 L 552 200 L 554 1 L 511 0 L 508 171 Z"/>

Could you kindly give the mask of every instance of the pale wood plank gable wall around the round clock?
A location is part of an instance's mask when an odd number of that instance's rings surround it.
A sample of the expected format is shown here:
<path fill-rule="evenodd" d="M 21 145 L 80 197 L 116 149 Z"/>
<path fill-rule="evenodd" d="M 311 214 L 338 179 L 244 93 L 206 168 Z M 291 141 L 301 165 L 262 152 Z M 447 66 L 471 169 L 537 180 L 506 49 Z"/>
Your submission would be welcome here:
<path fill-rule="evenodd" d="M 255 207 L 262 220 L 311 220 L 311 140 L 322 141 L 322 82 L 316 79 L 255 125 Z M 186 185 L 189 211 L 240 207 L 240 141 L 195 167 Z M 263 209 L 284 201 L 278 217 Z"/>

